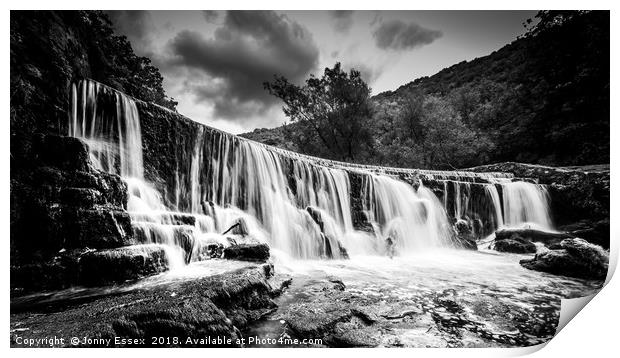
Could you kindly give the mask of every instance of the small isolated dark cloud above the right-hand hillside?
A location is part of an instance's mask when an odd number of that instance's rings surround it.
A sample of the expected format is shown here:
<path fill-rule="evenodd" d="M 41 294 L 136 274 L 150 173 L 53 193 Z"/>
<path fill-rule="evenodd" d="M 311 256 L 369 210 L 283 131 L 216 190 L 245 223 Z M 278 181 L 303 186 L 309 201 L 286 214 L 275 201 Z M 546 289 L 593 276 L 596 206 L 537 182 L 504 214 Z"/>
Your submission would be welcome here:
<path fill-rule="evenodd" d="M 375 44 L 384 50 L 409 50 L 428 45 L 442 36 L 441 31 L 424 28 L 415 22 L 393 20 L 381 23 L 373 32 Z"/>

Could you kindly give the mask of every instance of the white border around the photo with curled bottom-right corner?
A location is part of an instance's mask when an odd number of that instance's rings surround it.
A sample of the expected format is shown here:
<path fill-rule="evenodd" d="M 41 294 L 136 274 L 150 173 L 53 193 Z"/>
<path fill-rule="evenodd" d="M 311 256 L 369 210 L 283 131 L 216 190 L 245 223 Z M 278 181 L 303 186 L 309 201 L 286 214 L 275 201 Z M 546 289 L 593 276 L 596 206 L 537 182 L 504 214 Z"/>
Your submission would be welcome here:
<path fill-rule="evenodd" d="M 392 0 L 382 0 L 379 2 L 373 3 L 365 3 L 362 4 L 360 1 L 341 1 L 336 3 L 334 1 L 326 1 L 326 0 L 313 0 L 305 3 L 301 2 L 292 2 L 292 1 L 260 1 L 260 2 L 252 2 L 252 1 L 239 1 L 239 0 L 227 0 L 225 2 L 218 3 L 208 3 L 208 2 L 198 2 L 198 1 L 188 1 L 188 0 L 176 0 L 174 2 L 152 2 L 152 1 L 120 1 L 120 0 L 109 0 L 109 1 L 20 1 L 20 2 L 12 2 L 10 4 L 10 8 L 13 9 L 201 9 L 201 8 L 210 8 L 210 9 L 299 9 L 299 10 L 323 10 L 323 9 L 365 9 L 365 10 L 403 10 L 403 9 L 416 9 L 416 10 L 424 10 L 424 9 L 435 9 L 435 10 L 479 10 L 479 9 L 498 9 L 498 10 L 515 10 L 515 9 L 541 9 L 541 8 L 563 8 L 563 9 L 611 9 L 611 38 L 613 40 L 617 40 L 618 35 L 618 25 L 613 20 L 617 20 L 616 10 L 618 9 L 618 2 L 611 1 L 531 1 L 531 0 L 523 0 L 518 2 L 491 2 L 491 1 L 432 1 L 432 2 L 413 2 L 413 1 L 392 1 Z M 4 11 L 2 13 L 2 24 L 4 28 L 5 36 L 2 37 L 0 41 L 2 41 L 3 48 L 5 51 L 9 49 L 9 11 Z M 4 57 L 4 66 L 2 71 L 2 76 L 4 79 L 4 96 L 2 96 L 3 107 L 5 110 L 5 114 L 8 113 L 9 109 L 9 67 L 10 67 L 10 58 L 8 55 Z M 618 71 L 613 66 L 613 64 L 618 62 L 618 46 L 617 41 L 612 41 L 611 43 L 611 78 L 612 83 L 617 83 L 618 80 Z M 614 100 L 611 101 L 611 118 L 618 117 L 618 104 L 617 104 L 617 90 L 615 86 L 611 88 L 611 98 Z M 9 270 L 8 270 L 8 262 L 9 262 L 9 141 L 10 141 L 10 122 L 8 118 L 5 118 L 1 122 L 3 128 L 2 133 L 4 134 L 4 140 L 2 140 L 1 145 L 3 147 L 4 155 L 0 157 L 1 164 L 0 168 L 2 169 L 2 177 L 5 183 L 4 190 L 1 193 L 1 202 L 4 203 L 2 206 L 2 213 L 0 213 L 0 219 L 2 220 L 2 229 L 4 232 L 3 240 L 4 240 L 4 250 L 2 250 L 3 262 L 5 262 L 5 269 L 2 270 L 1 276 L 2 281 L 4 283 L 4 304 L 2 305 L 3 316 L 9 318 Z M 614 168 L 618 165 L 618 153 L 619 148 L 617 143 L 618 140 L 618 128 L 617 121 L 611 122 L 611 165 L 612 172 Z M 614 214 L 620 212 L 617 195 L 617 189 L 619 186 L 618 178 L 612 174 L 612 192 L 611 192 L 611 217 L 614 217 Z M 616 215 L 617 216 L 617 215 Z M 617 222 L 611 222 L 611 232 L 612 232 L 612 264 L 610 268 L 614 267 L 617 262 L 618 257 L 618 238 L 620 237 L 620 227 L 617 225 Z M 612 270 L 610 270 L 612 271 Z M 612 271 L 613 272 L 613 271 Z M 608 277 L 608 279 L 611 275 Z M 561 332 L 557 335 L 557 337 L 553 338 L 548 344 L 547 347 L 542 349 L 537 356 L 547 357 L 547 356 L 562 356 L 562 357 L 572 357 L 572 356 L 598 356 L 600 354 L 604 354 L 603 356 L 608 356 L 610 354 L 606 354 L 608 352 L 617 351 L 617 340 L 618 340 L 618 331 L 617 331 L 617 322 L 620 322 L 620 310 L 618 309 L 618 304 L 620 303 L 620 284 L 618 283 L 618 279 L 612 280 L 609 284 L 602 290 L 600 294 L 592 299 L 592 301 L 586 306 L 586 308 L 579 313 L 574 319 L 573 322 L 570 322 Z M 4 325 L 5 334 L 4 337 L 9 337 L 9 324 L 8 322 Z M 8 339 L 5 343 L 5 349 L 9 346 Z M 390 349 L 389 351 L 384 349 L 347 349 L 345 354 L 351 355 L 365 355 L 369 354 L 372 356 L 384 355 L 389 353 L 390 355 L 395 356 L 437 356 L 437 357 L 445 357 L 445 356 L 471 356 L 471 357 L 494 357 L 494 356 L 511 356 L 511 355 L 522 355 L 527 353 L 532 353 L 533 351 L 537 351 L 541 347 L 533 347 L 533 348 L 517 348 L 517 349 Z M 7 349 L 8 350 L 8 349 Z M 69 349 L 69 350 L 59 350 L 59 349 L 46 349 L 46 350 L 24 350 L 24 349 L 12 349 L 6 352 L 12 356 L 30 356 L 34 354 L 44 354 L 50 356 L 80 356 L 87 354 L 88 356 L 107 356 L 111 352 L 102 350 L 102 349 L 91 349 L 87 352 L 82 351 L 81 349 Z M 252 351 L 246 350 L 228 350 L 226 352 L 222 351 L 214 351 L 214 350 L 201 350 L 201 349 L 189 349 L 183 351 L 175 351 L 170 352 L 166 349 L 162 350 L 148 350 L 144 351 L 142 349 L 138 350 L 126 350 L 126 349 L 116 349 L 112 354 L 114 355 L 137 355 L 137 354 L 148 354 L 155 356 L 168 356 L 169 354 L 182 354 L 183 356 L 187 355 L 196 355 L 196 356 L 210 356 L 210 355 L 222 355 L 225 354 L 227 356 L 232 355 L 251 355 L 251 356 L 269 356 L 269 357 L 279 357 L 279 356 L 290 356 L 295 355 L 296 357 L 314 357 L 316 354 L 320 354 L 322 356 L 336 356 L 342 355 L 344 352 L 337 349 L 323 349 L 321 351 L 314 350 L 306 350 L 306 349 L 295 349 L 291 351 L 289 349 L 254 349 Z"/>

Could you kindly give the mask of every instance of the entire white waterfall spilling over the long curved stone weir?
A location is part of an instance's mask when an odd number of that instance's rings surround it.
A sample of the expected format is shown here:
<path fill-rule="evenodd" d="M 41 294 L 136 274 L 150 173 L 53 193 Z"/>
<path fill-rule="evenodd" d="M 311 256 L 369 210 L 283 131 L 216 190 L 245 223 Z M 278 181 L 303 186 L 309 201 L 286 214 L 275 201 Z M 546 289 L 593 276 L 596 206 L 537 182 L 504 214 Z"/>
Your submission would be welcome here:
<path fill-rule="evenodd" d="M 84 80 L 72 87 L 70 113 L 69 134 L 89 144 L 94 165 L 127 183 L 135 236 L 167 245 L 176 265 L 196 259 L 201 246 L 228 245 L 221 233 L 240 222 L 253 239 L 294 258 L 384 254 L 388 237 L 405 254 L 455 246 L 450 212 L 484 219 L 488 230 L 523 222 L 551 227 L 546 195 L 536 194 L 541 186 L 503 175 L 412 171 L 442 182 L 442 205 L 425 179 L 414 188 L 385 174 L 389 168 L 311 158 L 206 127 L 177 157 L 170 198 L 144 178 L 133 99 Z M 362 210 L 374 232 L 354 227 L 350 175 L 363 178 Z"/>

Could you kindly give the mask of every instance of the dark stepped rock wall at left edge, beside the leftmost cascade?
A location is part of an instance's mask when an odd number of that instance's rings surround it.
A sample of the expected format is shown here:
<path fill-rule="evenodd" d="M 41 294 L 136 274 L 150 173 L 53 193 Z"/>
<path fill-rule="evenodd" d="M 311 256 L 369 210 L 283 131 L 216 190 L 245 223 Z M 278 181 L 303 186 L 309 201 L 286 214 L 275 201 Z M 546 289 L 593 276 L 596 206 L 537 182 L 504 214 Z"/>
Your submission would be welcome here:
<path fill-rule="evenodd" d="M 76 138 L 35 135 L 29 156 L 11 175 L 11 287 L 64 287 L 83 253 L 133 243 L 127 186 Z"/>

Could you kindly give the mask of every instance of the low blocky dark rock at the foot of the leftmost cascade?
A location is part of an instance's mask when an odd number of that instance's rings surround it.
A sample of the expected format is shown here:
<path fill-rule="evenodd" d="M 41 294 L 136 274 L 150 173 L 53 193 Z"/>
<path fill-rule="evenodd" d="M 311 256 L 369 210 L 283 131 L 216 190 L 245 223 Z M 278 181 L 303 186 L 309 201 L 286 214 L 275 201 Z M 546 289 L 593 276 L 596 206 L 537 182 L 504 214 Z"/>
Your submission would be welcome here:
<path fill-rule="evenodd" d="M 80 283 L 103 286 L 136 280 L 168 269 L 163 245 L 145 244 L 89 252 L 79 260 Z"/>

